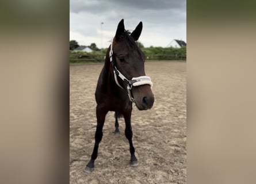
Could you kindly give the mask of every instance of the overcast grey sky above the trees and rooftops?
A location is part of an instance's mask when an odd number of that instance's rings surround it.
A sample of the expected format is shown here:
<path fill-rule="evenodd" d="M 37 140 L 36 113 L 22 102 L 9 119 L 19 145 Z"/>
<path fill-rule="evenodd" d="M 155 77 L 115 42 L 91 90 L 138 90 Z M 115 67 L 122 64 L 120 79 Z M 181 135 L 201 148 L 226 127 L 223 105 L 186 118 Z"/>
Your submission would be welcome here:
<path fill-rule="evenodd" d="M 106 48 L 122 18 L 131 31 L 143 22 L 139 41 L 144 47 L 166 47 L 173 39 L 186 42 L 186 0 L 70 0 L 70 40 L 101 48 L 102 36 Z"/>

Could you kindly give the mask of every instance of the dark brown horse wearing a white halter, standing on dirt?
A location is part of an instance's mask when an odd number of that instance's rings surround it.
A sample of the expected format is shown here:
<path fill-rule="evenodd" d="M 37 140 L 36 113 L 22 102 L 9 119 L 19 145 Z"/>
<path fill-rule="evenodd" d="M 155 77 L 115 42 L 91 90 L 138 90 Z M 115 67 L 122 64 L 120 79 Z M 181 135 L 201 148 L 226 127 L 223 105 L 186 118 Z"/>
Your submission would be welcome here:
<path fill-rule="evenodd" d="M 106 52 L 105 64 L 95 91 L 97 127 L 93 153 L 85 167 L 86 173 L 91 173 L 94 169 L 98 146 L 103 136 L 102 128 L 109 111 L 115 112 L 115 133 L 119 133 L 117 119 L 120 116 L 124 117 L 125 136 L 129 141 L 131 153 L 130 165 L 137 166 L 139 164 L 132 144 L 132 103 L 139 110 L 151 109 L 154 104 L 154 94 L 151 90 L 152 81 L 149 76 L 146 76 L 144 70 L 145 55 L 136 43 L 142 33 L 142 27 L 140 21 L 131 33 L 125 30 L 122 19 L 117 26 L 113 42 Z"/>

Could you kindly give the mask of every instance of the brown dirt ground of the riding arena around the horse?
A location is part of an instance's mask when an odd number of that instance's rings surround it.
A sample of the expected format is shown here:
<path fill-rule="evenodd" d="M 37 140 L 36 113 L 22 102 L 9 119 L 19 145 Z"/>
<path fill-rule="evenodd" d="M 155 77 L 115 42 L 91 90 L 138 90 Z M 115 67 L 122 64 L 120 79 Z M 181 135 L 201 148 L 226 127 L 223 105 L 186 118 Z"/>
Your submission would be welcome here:
<path fill-rule="evenodd" d="M 132 131 L 139 166 L 129 166 L 129 143 L 114 135 L 114 112 L 106 116 L 93 173 L 83 170 L 94 147 L 94 92 L 103 64 L 70 65 L 70 183 L 186 183 L 186 63 L 146 62 L 155 103 L 133 105 Z"/>

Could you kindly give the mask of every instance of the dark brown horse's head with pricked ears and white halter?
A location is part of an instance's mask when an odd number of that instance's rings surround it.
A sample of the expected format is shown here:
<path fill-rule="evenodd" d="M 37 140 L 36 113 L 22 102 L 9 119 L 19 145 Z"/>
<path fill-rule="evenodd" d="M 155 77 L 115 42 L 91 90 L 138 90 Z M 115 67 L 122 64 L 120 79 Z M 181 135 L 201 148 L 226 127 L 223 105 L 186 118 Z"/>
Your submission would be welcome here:
<path fill-rule="evenodd" d="M 142 33 L 142 22 L 129 34 L 124 29 L 124 20 L 121 20 L 109 56 L 112 70 L 116 73 L 114 75 L 117 85 L 127 91 L 131 101 L 135 102 L 139 110 L 147 110 L 154 104 L 154 94 L 151 91 L 151 79 L 145 74 L 145 55 L 136 43 L 140 33 Z"/>

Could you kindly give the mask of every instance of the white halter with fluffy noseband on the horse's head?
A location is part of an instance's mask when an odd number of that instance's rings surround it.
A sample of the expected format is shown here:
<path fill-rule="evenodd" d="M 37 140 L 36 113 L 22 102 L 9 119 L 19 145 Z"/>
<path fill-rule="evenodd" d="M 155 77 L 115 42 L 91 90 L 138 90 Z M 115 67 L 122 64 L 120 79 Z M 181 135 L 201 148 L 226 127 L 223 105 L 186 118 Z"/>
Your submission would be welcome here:
<path fill-rule="evenodd" d="M 110 63 L 112 63 L 114 68 L 114 81 L 116 82 L 117 86 L 121 87 L 121 89 L 123 89 L 123 87 L 119 84 L 117 80 L 117 76 L 119 76 L 124 82 L 127 82 L 127 91 L 128 91 L 129 99 L 131 102 L 135 102 L 135 99 L 132 98 L 132 95 L 131 95 L 132 86 L 150 85 L 152 88 L 153 83 L 149 76 L 138 76 L 138 77 L 133 77 L 132 80 L 128 80 L 119 70 L 117 70 L 116 62 L 112 56 L 113 56 L 113 48 L 112 48 L 112 44 L 110 44 L 109 59 L 110 59 Z"/>

